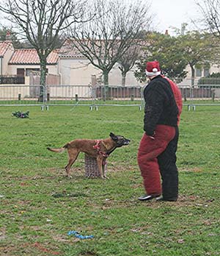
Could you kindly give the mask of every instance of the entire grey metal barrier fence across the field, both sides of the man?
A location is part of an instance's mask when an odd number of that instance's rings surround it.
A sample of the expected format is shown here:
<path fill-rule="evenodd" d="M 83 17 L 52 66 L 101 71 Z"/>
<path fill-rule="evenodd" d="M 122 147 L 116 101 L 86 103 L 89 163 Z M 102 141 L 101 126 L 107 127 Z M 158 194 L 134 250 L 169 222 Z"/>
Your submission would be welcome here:
<path fill-rule="evenodd" d="M 220 85 L 179 86 L 183 105 L 220 105 Z M 90 85 L 0 85 L 0 106 L 99 106 L 144 105 L 140 86 Z"/>

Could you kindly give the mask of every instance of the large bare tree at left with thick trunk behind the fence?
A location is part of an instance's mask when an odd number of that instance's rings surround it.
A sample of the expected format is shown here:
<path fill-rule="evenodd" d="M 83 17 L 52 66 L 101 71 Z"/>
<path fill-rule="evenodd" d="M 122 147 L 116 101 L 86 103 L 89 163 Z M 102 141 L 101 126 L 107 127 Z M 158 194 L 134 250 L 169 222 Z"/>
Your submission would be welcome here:
<path fill-rule="evenodd" d="M 1 12 L 37 51 L 40 85 L 45 85 L 48 55 L 57 48 L 62 32 L 71 24 L 81 21 L 85 6 L 84 0 L 7 0 L 1 4 Z M 40 91 L 42 99 L 43 90 Z"/>

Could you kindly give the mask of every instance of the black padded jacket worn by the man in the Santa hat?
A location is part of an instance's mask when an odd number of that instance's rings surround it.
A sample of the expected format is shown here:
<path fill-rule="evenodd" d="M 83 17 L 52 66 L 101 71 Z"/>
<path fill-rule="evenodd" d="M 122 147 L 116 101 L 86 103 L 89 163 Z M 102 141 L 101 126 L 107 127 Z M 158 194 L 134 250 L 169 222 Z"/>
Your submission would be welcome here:
<path fill-rule="evenodd" d="M 178 108 L 169 82 L 160 75 L 144 88 L 144 131 L 152 136 L 157 124 L 177 126 Z"/>

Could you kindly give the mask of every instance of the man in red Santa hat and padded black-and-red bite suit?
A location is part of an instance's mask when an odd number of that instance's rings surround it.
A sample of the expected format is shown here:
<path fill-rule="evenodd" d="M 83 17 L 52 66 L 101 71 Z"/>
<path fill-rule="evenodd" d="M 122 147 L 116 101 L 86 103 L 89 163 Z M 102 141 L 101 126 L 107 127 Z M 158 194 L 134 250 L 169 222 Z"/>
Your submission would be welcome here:
<path fill-rule="evenodd" d="M 144 88 L 144 135 L 137 156 L 146 194 L 139 200 L 177 201 L 182 96 L 177 85 L 161 75 L 158 61 L 147 63 L 146 75 L 150 82 Z"/>

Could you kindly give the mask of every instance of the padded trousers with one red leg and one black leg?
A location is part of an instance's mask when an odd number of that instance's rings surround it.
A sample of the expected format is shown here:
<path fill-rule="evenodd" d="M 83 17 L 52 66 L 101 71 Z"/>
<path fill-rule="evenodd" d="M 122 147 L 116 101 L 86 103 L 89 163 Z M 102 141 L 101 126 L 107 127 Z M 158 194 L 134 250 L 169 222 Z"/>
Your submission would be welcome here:
<path fill-rule="evenodd" d="M 158 125 L 154 140 L 144 133 L 139 144 L 138 164 L 144 188 L 149 195 L 161 195 L 165 200 L 177 199 L 178 171 L 176 166 L 178 127 Z M 162 185 L 161 185 L 162 179 Z"/>

